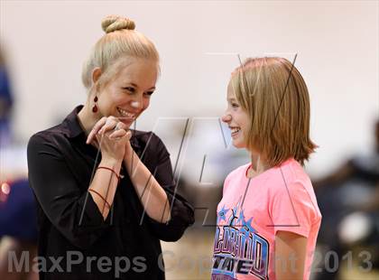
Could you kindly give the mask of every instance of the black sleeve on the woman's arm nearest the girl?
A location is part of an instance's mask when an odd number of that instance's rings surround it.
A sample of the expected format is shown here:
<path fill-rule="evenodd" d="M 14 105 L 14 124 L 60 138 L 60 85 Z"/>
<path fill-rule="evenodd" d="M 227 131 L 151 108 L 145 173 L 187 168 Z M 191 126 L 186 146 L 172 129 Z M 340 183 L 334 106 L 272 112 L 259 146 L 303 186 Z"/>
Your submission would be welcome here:
<path fill-rule="evenodd" d="M 157 238 L 163 241 L 176 241 L 181 238 L 184 230 L 194 223 L 194 211 L 189 202 L 176 193 L 170 154 L 161 139 L 156 135 L 153 136 L 158 138 L 158 144 L 154 147 L 154 150 L 158 153 L 158 164 L 156 165 L 154 177 L 167 193 L 169 205 L 166 207 L 171 207 L 171 219 L 167 223 L 160 223 L 151 218 L 148 219 L 153 234 Z"/>

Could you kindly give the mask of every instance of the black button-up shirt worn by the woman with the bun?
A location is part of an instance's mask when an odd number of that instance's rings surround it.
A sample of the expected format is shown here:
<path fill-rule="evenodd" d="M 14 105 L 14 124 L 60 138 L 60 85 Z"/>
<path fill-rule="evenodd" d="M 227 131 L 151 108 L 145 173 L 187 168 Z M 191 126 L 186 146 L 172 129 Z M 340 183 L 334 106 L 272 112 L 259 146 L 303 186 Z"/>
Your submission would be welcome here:
<path fill-rule="evenodd" d="M 101 153 L 86 144 L 80 109 L 59 126 L 32 135 L 28 144 L 29 182 L 38 201 L 39 256 L 47 260 L 39 262 L 40 278 L 164 279 L 160 239 L 178 240 L 194 222 L 193 209 L 174 191 L 170 154 L 157 135 L 133 131 L 131 145 L 166 191 L 171 220 L 160 223 L 143 212 L 125 167 L 104 220 L 88 195 Z M 54 266 L 58 260 L 60 266 Z"/>

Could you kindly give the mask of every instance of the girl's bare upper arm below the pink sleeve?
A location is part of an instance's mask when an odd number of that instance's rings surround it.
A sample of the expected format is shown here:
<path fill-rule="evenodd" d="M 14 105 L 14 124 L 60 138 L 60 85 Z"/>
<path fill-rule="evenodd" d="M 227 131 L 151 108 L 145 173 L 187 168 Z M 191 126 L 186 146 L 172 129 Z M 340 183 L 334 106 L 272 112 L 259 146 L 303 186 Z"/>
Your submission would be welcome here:
<path fill-rule="evenodd" d="M 277 280 L 302 280 L 307 238 L 290 231 L 275 235 L 275 275 Z"/>

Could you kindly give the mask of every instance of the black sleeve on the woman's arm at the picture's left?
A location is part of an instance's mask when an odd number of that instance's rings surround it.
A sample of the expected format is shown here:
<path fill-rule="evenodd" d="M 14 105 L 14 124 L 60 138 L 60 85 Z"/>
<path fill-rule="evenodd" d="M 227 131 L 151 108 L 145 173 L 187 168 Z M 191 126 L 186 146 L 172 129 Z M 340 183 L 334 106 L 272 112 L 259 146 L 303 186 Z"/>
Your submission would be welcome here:
<path fill-rule="evenodd" d="M 51 142 L 51 139 L 38 134 L 29 140 L 29 183 L 51 224 L 71 244 L 86 249 L 100 237 L 108 225 L 88 191 L 79 189 L 78 182 L 58 148 L 59 145 Z"/>

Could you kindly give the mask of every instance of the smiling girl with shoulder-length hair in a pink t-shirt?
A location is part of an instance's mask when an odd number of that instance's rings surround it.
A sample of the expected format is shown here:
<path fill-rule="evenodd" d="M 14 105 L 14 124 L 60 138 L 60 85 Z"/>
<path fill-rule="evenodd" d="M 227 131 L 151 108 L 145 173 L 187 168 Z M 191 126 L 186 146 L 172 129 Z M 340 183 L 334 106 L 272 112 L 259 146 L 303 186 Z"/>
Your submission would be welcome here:
<path fill-rule="evenodd" d="M 321 214 L 302 168 L 316 148 L 305 82 L 290 61 L 248 59 L 227 104 L 222 120 L 251 163 L 226 177 L 212 279 L 309 279 Z"/>

